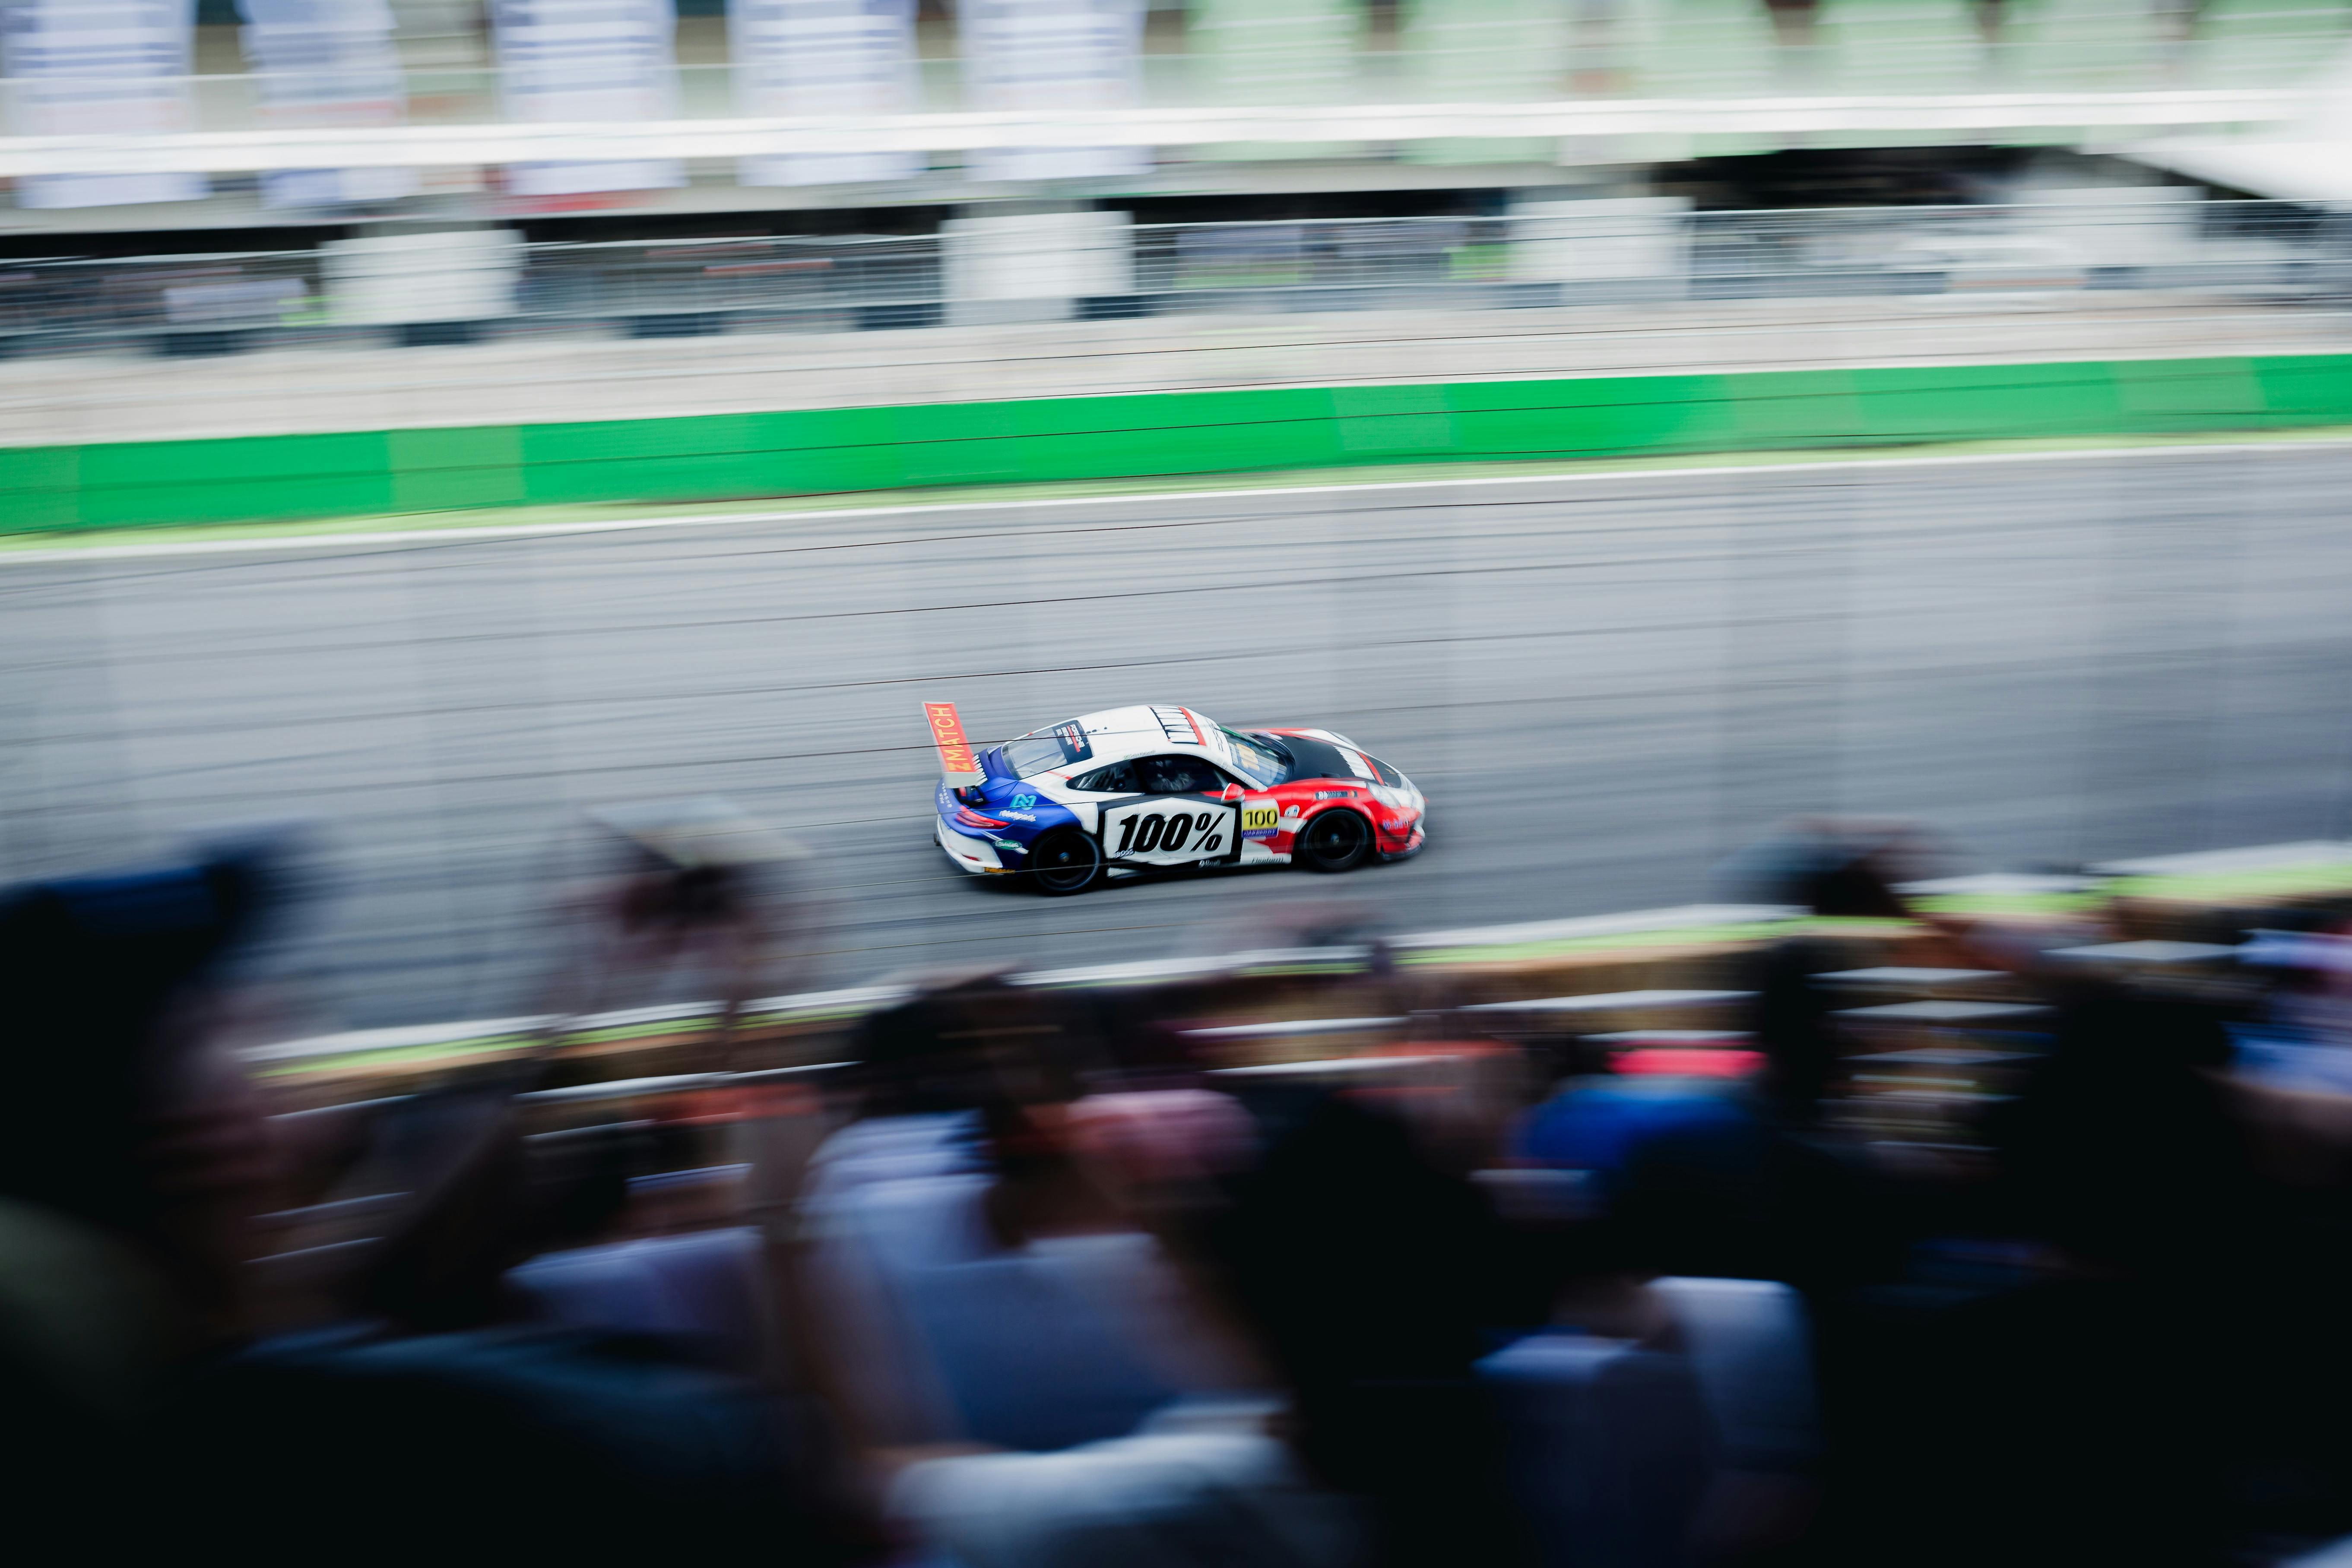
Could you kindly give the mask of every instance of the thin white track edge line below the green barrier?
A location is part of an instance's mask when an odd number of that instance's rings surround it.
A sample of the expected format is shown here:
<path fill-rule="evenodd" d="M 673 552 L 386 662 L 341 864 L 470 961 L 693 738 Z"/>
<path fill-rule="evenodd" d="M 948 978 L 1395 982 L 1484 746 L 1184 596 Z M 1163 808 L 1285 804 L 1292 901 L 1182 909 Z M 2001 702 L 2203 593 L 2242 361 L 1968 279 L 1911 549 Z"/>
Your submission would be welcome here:
<path fill-rule="evenodd" d="M 1162 505 L 1169 501 L 1204 498 L 1265 498 L 1265 496 L 1352 496 L 1352 494 L 1399 494 L 1414 489 L 1489 489 L 1501 484 L 1623 484 L 1644 480 L 1722 480 L 1743 475 L 1783 473 L 1830 473 L 1851 468 L 1962 468 L 1976 463 L 2079 463 L 2093 458 L 2157 458 L 2187 454 L 2253 454 L 2253 451 L 2333 451 L 2347 449 L 2347 437 L 2319 440 L 2272 440 L 2272 442 L 2166 442 L 2150 447 L 2067 447 L 2063 451 L 1955 451 L 1947 456 L 1879 458 L 1853 454 L 1846 458 L 1820 458 L 1806 463 L 1717 463 L 1700 468 L 1599 468 L 1543 475 L 1465 475 L 1461 480 L 1367 480 L 1362 484 L 1268 484 L 1251 489 L 1160 489 L 1115 496 L 1044 496 L 1035 501 L 920 501 L 910 505 L 842 505 L 823 510 L 783 512 L 713 512 L 696 517 L 619 517 L 612 522 L 515 522 L 480 529 L 386 529 L 374 534 L 289 534 L 285 538 L 188 538 L 153 545 L 61 545 L 56 550 L 5 550 L 0 567 L 47 564 L 64 559 L 143 559 L 158 555 L 240 555 L 261 550 L 339 550 L 348 545 L 423 545 L 477 538 L 546 538 L 562 534 L 628 534 L 640 529 L 720 529 L 757 522 L 840 522 L 849 517 L 922 517 L 938 512 L 1014 512 L 1058 505 Z M 1508 461 L 1508 458 L 1505 458 Z M 1609 461 L 1609 458 L 1599 458 Z M 1077 480 L 1087 484 L 1089 480 Z M 172 524 L 160 524 L 172 527 Z"/>

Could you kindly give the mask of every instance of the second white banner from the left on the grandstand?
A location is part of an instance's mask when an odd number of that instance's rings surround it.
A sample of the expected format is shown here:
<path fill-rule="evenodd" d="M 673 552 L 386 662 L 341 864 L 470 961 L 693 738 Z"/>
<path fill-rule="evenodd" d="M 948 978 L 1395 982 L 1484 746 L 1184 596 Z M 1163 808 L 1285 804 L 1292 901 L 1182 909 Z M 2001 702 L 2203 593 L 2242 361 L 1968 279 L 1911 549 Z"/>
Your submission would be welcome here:
<path fill-rule="evenodd" d="M 400 125 L 405 82 L 386 0 L 240 0 L 245 59 L 270 125 Z M 268 169 L 263 207 L 416 195 L 416 169 Z"/>

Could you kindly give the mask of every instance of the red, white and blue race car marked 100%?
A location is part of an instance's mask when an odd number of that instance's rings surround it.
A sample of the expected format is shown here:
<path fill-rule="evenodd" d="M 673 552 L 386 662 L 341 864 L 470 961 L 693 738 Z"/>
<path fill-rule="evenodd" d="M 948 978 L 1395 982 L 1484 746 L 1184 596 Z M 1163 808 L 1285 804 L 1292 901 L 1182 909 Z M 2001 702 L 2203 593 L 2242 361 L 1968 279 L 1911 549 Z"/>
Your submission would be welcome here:
<path fill-rule="evenodd" d="M 938 846 L 1040 893 L 1169 867 L 1345 872 L 1421 849 L 1421 790 L 1329 729 L 1225 729 L 1176 703 L 1110 708 L 974 745 L 924 703 L 938 750 Z"/>

